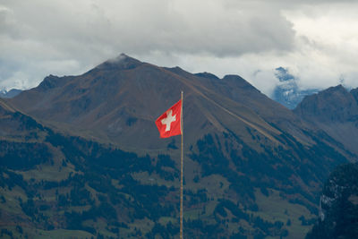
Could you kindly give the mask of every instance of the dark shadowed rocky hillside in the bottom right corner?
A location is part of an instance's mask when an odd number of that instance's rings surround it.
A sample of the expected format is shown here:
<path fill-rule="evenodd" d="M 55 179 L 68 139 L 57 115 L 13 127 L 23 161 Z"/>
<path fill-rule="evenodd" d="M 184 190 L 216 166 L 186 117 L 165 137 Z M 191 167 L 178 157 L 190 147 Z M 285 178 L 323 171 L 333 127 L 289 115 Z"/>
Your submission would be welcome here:
<path fill-rule="evenodd" d="M 320 195 L 320 218 L 308 239 L 358 237 L 358 165 L 332 172 Z"/>

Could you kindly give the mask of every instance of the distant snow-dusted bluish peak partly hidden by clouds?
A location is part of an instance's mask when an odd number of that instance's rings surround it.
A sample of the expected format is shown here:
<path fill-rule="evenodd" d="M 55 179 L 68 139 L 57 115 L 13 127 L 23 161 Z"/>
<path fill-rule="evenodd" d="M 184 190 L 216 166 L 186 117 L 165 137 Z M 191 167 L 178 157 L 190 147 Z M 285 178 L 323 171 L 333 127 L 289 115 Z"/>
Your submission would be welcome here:
<path fill-rule="evenodd" d="M 297 85 L 297 79 L 284 67 L 276 69 L 276 77 L 279 83 L 272 94 L 272 99 L 289 109 L 294 109 L 305 96 L 319 91 L 317 89 L 301 90 Z"/>

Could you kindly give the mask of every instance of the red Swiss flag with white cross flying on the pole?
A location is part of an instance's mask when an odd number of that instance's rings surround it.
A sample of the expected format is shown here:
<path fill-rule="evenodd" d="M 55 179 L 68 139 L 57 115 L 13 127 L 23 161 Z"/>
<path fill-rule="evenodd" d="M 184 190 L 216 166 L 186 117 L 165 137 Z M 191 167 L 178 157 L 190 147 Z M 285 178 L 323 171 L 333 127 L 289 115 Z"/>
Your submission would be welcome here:
<path fill-rule="evenodd" d="M 166 110 L 156 120 L 160 138 L 182 134 L 182 100 L 175 103 L 173 107 Z"/>

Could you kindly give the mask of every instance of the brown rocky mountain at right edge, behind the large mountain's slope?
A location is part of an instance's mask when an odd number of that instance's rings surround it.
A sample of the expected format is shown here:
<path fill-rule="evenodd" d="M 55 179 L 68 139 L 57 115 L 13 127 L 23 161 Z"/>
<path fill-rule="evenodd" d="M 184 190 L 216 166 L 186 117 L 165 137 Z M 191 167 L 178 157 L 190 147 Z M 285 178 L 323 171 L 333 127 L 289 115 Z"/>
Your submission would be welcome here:
<path fill-rule="evenodd" d="M 304 98 L 294 113 L 358 153 L 358 89 L 348 91 L 338 85 L 322 90 Z"/>

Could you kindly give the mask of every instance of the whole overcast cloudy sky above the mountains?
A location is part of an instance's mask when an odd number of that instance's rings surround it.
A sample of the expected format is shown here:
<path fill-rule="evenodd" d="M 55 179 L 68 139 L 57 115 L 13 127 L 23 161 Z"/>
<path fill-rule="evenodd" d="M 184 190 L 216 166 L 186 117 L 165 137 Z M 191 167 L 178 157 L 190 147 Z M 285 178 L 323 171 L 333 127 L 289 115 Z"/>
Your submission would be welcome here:
<path fill-rule="evenodd" d="M 275 69 L 303 89 L 358 87 L 358 3 L 342 0 L 0 0 L 0 89 L 77 75 L 120 53 L 270 95 Z"/>

